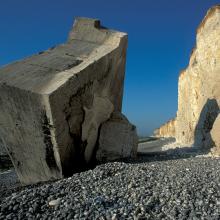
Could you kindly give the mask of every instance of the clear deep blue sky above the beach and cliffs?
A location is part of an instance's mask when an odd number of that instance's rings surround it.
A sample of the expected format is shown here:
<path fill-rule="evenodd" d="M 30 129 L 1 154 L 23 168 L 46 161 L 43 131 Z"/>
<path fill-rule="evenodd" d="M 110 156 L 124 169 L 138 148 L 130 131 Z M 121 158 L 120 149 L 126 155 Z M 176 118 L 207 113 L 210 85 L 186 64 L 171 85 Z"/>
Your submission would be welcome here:
<path fill-rule="evenodd" d="M 140 135 L 172 118 L 195 31 L 217 0 L 2 0 L 0 65 L 64 42 L 76 16 L 128 32 L 123 112 Z"/>

